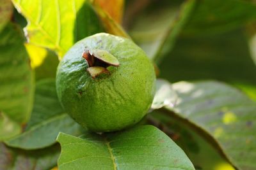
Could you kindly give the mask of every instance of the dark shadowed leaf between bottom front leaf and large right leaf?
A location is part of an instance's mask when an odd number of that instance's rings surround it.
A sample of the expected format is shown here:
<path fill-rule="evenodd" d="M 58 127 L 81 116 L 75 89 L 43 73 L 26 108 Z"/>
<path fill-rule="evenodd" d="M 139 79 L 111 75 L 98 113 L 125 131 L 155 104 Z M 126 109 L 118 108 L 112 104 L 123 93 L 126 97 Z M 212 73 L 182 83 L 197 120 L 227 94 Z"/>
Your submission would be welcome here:
<path fill-rule="evenodd" d="M 225 157 L 216 150 L 203 136 L 186 122 L 177 121 L 170 111 L 154 110 L 147 117 L 150 124 L 155 124 L 184 150 L 195 169 L 200 170 L 235 170 Z M 204 160 L 204 161 L 202 161 Z"/>

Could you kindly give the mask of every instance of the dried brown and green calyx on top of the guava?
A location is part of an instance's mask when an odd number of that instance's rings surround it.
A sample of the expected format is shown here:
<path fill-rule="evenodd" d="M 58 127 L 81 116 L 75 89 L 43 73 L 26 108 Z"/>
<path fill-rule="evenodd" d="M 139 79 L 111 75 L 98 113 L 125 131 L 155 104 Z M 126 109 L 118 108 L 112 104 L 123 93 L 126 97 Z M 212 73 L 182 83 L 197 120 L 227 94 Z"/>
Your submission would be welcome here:
<path fill-rule="evenodd" d="M 120 63 L 111 53 L 105 50 L 85 50 L 83 52 L 83 58 L 88 62 L 87 71 L 92 78 L 99 76 L 100 74 L 109 74 L 107 67 L 119 66 Z"/>

